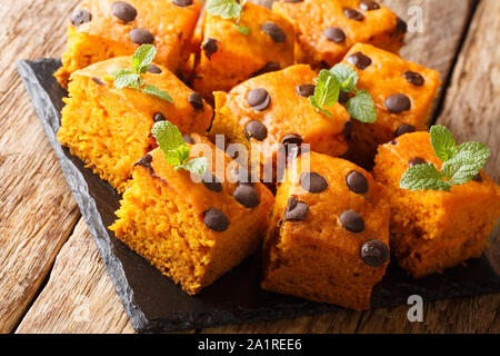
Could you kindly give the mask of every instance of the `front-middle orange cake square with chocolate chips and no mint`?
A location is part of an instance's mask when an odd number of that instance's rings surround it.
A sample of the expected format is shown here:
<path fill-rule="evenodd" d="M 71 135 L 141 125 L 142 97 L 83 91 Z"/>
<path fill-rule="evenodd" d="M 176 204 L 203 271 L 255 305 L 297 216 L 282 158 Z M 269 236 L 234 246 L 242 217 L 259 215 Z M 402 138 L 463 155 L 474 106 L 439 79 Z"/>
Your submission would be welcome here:
<path fill-rule="evenodd" d="M 389 204 L 364 169 L 302 154 L 278 185 L 262 288 L 357 310 L 389 261 Z"/>

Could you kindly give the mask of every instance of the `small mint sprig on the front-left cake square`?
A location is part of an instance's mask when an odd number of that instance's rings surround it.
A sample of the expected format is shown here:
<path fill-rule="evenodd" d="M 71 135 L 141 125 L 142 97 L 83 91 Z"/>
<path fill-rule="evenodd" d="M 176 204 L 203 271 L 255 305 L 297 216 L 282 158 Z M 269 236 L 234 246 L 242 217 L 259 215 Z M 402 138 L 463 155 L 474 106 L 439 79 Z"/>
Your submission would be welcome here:
<path fill-rule="evenodd" d="M 174 170 L 184 169 L 203 177 L 208 167 L 207 158 L 189 159 L 189 147 L 177 126 L 169 121 L 159 121 L 153 125 L 151 132 L 163 151 L 164 159 Z"/>

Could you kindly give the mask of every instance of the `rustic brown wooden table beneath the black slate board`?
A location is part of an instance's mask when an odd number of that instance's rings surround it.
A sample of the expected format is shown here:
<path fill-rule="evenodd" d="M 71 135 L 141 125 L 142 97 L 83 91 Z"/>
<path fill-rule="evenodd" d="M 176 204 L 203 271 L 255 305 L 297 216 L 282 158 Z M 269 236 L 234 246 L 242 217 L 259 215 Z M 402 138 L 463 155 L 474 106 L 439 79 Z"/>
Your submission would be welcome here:
<path fill-rule="evenodd" d="M 423 32 L 401 56 L 441 72 L 433 120 L 459 141 L 492 148 L 487 172 L 500 178 L 500 1 L 386 0 Z M 77 0 L 0 0 L 0 332 L 133 333 L 94 243 L 16 72 L 20 59 L 58 57 Z M 500 261 L 499 230 L 489 254 Z M 499 269 L 499 266 L 497 266 Z M 341 312 L 193 333 L 499 333 L 500 295 Z"/>

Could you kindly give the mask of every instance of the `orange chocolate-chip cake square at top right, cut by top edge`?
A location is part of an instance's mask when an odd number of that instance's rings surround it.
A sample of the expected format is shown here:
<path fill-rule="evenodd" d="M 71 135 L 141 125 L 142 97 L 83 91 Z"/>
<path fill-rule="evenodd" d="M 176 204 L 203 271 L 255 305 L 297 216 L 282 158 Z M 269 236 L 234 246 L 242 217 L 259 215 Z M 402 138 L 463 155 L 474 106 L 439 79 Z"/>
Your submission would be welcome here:
<path fill-rule="evenodd" d="M 280 0 L 272 10 L 288 18 L 297 32 L 297 60 L 332 67 L 354 43 L 398 52 L 407 24 L 380 1 Z"/>

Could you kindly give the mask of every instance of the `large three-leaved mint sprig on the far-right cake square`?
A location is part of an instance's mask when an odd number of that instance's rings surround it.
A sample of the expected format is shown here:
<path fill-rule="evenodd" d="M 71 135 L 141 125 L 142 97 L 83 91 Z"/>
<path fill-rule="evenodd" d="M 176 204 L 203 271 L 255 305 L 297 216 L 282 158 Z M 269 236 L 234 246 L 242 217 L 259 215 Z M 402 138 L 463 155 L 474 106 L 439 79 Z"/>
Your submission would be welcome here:
<path fill-rule="evenodd" d="M 401 188 L 449 191 L 452 185 L 463 185 L 478 175 L 491 155 L 491 150 L 481 142 L 457 147 L 453 135 L 440 125 L 431 127 L 430 141 L 436 156 L 443 162 L 441 171 L 432 164 L 408 168 L 401 177 Z"/>

